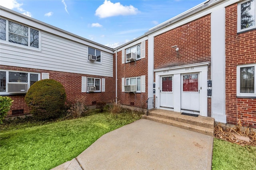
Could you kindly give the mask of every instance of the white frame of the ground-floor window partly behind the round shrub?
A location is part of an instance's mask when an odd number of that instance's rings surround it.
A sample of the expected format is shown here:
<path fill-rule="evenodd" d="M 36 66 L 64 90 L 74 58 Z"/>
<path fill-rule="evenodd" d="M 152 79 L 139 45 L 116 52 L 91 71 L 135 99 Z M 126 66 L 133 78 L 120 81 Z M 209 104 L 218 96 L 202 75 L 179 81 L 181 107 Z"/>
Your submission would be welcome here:
<path fill-rule="evenodd" d="M 8 83 L 9 82 L 9 72 L 22 72 L 28 74 L 28 82 L 14 82 L 15 84 L 28 84 L 28 89 L 30 88 L 30 74 L 38 74 L 38 81 L 41 80 L 41 74 L 38 72 L 24 72 L 24 71 L 17 71 L 17 70 L 0 70 L 6 72 L 6 92 L 0 92 L 0 95 L 13 95 L 13 94 L 21 94 L 21 93 L 9 93 L 8 92 Z M 26 92 L 24 92 L 26 93 Z M 23 94 L 23 93 L 22 93 Z"/>

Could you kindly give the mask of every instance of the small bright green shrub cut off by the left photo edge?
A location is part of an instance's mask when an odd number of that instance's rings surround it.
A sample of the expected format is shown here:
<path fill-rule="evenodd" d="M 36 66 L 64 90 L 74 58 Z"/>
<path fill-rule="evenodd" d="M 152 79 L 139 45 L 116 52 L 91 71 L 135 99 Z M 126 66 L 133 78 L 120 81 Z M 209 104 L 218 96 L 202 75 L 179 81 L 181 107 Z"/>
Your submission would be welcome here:
<path fill-rule="evenodd" d="M 13 100 L 8 96 L 0 96 L 0 124 L 3 123 L 4 118 L 8 114 L 12 106 Z"/>

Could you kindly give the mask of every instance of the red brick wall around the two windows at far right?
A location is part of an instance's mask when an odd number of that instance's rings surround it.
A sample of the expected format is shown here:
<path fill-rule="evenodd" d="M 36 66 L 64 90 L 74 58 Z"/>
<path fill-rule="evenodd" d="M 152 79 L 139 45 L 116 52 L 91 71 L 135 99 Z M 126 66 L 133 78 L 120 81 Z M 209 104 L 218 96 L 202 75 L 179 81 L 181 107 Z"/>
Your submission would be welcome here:
<path fill-rule="evenodd" d="M 237 33 L 237 4 L 226 7 L 227 123 L 256 127 L 256 99 L 236 98 L 236 67 L 256 63 L 256 30 Z"/>

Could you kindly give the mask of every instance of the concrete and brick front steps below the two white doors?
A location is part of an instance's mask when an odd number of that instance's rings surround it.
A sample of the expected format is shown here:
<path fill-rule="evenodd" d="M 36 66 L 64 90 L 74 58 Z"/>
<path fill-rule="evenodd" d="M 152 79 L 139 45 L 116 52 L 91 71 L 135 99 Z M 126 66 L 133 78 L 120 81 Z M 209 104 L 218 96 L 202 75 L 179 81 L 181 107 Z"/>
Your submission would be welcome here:
<path fill-rule="evenodd" d="M 142 118 L 210 136 L 214 135 L 214 118 L 212 117 L 204 117 L 200 115 L 194 117 L 182 115 L 180 112 L 176 111 L 153 109 L 148 112 L 148 116 L 143 115 Z"/>

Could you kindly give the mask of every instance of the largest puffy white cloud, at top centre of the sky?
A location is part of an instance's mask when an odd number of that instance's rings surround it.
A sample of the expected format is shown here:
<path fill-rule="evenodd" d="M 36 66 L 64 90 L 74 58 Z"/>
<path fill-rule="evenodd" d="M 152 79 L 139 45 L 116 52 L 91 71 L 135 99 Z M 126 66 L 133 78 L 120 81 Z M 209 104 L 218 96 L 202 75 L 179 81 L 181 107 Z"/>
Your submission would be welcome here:
<path fill-rule="evenodd" d="M 105 0 L 102 5 L 100 5 L 95 15 L 100 18 L 107 18 L 112 16 L 127 16 L 138 14 L 139 10 L 134 8 L 134 6 L 123 6 L 120 2 L 112 3 L 110 0 Z"/>

